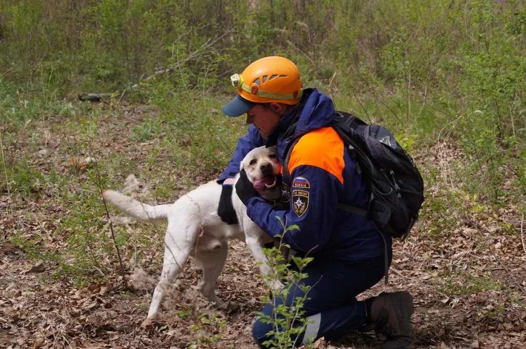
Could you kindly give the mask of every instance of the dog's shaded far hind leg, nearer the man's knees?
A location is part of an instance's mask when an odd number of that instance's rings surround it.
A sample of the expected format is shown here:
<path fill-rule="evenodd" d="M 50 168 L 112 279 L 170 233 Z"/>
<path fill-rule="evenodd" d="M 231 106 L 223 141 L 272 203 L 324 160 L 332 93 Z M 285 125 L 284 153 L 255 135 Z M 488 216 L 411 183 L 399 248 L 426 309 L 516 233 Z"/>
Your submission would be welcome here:
<path fill-rule="evenodd" d="M 218 240 L 219 241 L 219 240 Z M 199 290 L 210 302 L 213 302 L 219 309 L 225 309 L 226 305 L 216 295 L 216 283 L 219 274 L 225 266 L 228 255 L 228 242 L 221 241 L 221 248 L 214 251 L 198 251 L 195 259 L 203 267 L 203 280 L 199 283 Z"/>

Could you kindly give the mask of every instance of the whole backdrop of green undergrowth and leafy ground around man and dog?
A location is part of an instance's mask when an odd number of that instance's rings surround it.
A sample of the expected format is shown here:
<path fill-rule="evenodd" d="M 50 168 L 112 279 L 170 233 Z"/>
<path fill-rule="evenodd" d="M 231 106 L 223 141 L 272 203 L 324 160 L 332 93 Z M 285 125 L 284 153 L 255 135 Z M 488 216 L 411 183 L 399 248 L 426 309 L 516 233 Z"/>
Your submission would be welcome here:
<path fill-rule="evenodd" d="M 0 3 L 0 344 L 255 348 L 266 289 L 246 246 L 217 287 L 235 310 L 187 292 L 188 264 L 145 325 L 165 227 L 100 193 L 167 203 L 217 178 L 246 132 L 220 109 L 228 77 L 282 55 L 423 174 L 419 222 L 370 294 L 414 295 L 418 347 L 524 347 L 525 32 L 513 0 Z"/>

